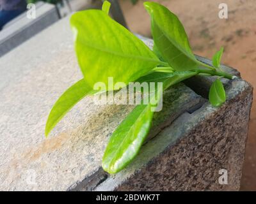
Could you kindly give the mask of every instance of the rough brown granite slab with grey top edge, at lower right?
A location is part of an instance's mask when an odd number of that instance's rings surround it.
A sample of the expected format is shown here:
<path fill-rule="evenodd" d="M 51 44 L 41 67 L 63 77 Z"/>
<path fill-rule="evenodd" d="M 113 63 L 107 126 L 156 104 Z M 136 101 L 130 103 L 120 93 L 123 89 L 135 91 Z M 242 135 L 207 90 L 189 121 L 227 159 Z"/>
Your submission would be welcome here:
<path fill-rule="evenodd" d="M 239 190 L 252 87 L 233 80 L 227 98 L 221 108 L 207 102 L 194 113 L 181 115 L 144 145 L 131 166 L 95 190 Z M 221 169 L 228 172 L 227 185 L 218 182 Z"/>

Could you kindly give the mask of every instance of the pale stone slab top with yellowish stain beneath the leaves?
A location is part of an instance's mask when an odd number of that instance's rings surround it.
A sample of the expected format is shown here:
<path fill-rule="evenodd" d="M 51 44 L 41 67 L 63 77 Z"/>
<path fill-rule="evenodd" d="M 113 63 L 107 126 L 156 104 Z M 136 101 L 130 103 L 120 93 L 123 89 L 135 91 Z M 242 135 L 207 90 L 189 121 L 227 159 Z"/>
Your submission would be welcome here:
<path fill-rule="evenodd" d="M 99 106 L 84 98 L 45 139 L 52 105 L 82 77 L 69 19 L 1 57 L 0 73 L 0 190 L 95 189 L 108 177 L 100 168 L 108 138 L 133 106 Z M 184 84 L 168 89 L 164 98 L 152 136 L 201 103 Z"/>

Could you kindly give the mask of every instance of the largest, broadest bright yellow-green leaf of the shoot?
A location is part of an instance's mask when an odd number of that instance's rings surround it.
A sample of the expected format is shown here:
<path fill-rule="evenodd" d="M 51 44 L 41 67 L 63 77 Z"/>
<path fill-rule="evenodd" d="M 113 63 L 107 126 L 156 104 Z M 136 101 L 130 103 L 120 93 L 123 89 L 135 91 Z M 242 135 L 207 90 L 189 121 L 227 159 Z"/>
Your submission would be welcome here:
<path fill-rule="evenodd" d="M 70 24 L 79 66 L 91 87 L 96 82 L 108 87 L 108 77 L 128 84 L 161 64 L 147 45 L 104 11 L 78 11 Z"/>

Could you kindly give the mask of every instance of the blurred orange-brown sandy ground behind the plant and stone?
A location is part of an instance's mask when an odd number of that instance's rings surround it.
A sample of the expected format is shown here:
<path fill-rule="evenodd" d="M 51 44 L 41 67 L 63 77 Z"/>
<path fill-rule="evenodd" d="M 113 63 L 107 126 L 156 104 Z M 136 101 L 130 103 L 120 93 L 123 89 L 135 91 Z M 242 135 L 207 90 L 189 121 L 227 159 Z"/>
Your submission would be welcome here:
<path fill-rule="evenodd" d="M 241 72 L 242 77 L 256 87 L 256 2 L 255 0 L 159 0 L 176 13 L 188 33 L 195 54 L 211 58 L 225 47 L 223 64 Z M 228 19 L 218 17 L 220 3 L 228 5 Z M 129 29 L 150 36 L 150 18 L 143 1 L 135 6 L 129 0 L 120 1 Z M 253 94 L 255 97 L 255 92 Z M 256 105 L 253 102 L 249 138 L 246 147 L 242 191 L 256 191 Z"/>

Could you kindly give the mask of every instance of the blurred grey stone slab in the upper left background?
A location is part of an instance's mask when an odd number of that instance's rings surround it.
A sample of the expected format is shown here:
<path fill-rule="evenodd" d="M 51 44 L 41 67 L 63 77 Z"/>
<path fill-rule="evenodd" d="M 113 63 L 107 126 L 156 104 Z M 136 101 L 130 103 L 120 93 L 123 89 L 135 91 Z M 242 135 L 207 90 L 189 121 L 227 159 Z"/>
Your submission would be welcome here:
<path fill-rule="evenodd" d="M 29 19 L 24 12 L 4 26 L 0 34 L 0 57 L 58 19 L 58 11 L 54 5 L 37 3 L 35 19 Z"/>

